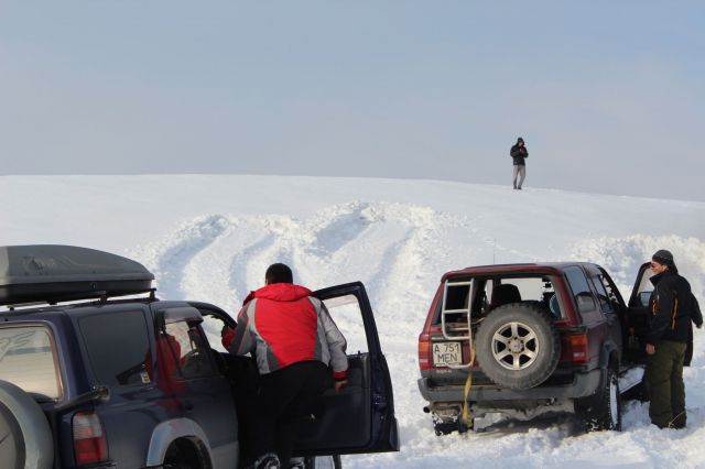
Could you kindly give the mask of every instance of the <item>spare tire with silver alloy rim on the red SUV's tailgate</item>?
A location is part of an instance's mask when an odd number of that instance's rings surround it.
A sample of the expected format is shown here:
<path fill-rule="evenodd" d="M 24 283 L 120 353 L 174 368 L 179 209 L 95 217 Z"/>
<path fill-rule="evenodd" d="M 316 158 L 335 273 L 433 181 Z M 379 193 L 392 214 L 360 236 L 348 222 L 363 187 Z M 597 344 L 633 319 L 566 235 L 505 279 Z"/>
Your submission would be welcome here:
<path fill-rule="evenodd" d="M 536 386 L 555 370 L 561 338 L 551 314 L 534 303 L 510 303 L 490 312 L 475 338 L 477 361 L 497 384 Z"/>

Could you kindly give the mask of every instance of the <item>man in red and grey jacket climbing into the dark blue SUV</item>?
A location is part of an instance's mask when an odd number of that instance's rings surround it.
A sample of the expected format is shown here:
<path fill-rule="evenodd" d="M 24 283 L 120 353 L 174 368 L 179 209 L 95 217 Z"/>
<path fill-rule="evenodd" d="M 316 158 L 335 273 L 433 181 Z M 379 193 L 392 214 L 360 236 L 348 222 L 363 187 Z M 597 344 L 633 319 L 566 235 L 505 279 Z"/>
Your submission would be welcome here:
<path fill-rule="evenodd" d="M 291 269 L 270 265 L 264 283 L 246 301 L 235 331 L 224 336 L 228 351 L 252 353 L 260 372 L 257 469 L 289 467 L 296 424 L 312 414 L 330 373 L 337 392 L 347 384 L 348 369 L 345 337 L 325 305 L 294 285 Z"/>

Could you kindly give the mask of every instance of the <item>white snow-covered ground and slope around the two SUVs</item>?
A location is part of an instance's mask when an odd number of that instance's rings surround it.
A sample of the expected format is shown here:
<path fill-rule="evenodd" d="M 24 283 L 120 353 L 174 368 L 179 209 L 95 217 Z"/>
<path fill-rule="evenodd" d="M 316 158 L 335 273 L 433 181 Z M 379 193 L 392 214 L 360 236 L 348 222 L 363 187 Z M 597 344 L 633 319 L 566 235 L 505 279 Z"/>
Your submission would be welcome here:
<path fill-rule="evenodd" d="M 528 179 L 530 183 L 530 179 Z M 3 176 L 0 244 L 64 243 L 132 257 L 164 298 L 234 312 L 264 269 L 286 262 L 311 288 L 362 281 L 392 370 L 402 449 L 346 467 L 705 467 L 705 334 L 686 369 L 688 427 L 659 430 L 628 403 L 622 433 L 567 419 L 436 437 L 422 412 L 416 337 L 443 272 L 586 260 L 622 295 L 670 249 L 705 304 L 705 203 L 431 181 L 278 176 Z"/>

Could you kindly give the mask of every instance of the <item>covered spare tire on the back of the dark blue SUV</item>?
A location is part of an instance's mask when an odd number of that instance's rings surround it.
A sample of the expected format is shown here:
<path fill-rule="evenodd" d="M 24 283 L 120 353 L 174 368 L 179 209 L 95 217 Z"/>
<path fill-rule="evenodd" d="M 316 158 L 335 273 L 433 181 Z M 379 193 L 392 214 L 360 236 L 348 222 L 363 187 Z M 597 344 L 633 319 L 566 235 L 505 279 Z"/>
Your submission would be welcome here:
<path fill-rule="evenodd" d="M 54 441 L 39 404 L 22 389 L 0 380 L 0 467 L 51 469 Z"/>

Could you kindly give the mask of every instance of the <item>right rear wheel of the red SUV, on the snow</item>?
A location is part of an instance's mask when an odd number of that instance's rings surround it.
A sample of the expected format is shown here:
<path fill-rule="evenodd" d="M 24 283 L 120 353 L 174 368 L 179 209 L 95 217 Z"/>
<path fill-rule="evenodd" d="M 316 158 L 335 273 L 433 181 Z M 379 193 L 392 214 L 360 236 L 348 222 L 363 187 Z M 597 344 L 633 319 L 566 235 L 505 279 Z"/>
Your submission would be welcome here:
<path fill-rule="evenodd" d="M 621 432 L 621 395 L 617 372 L 608 368 L 595 395 L 579 400 L 576 406 L 587 432 Z"/>

